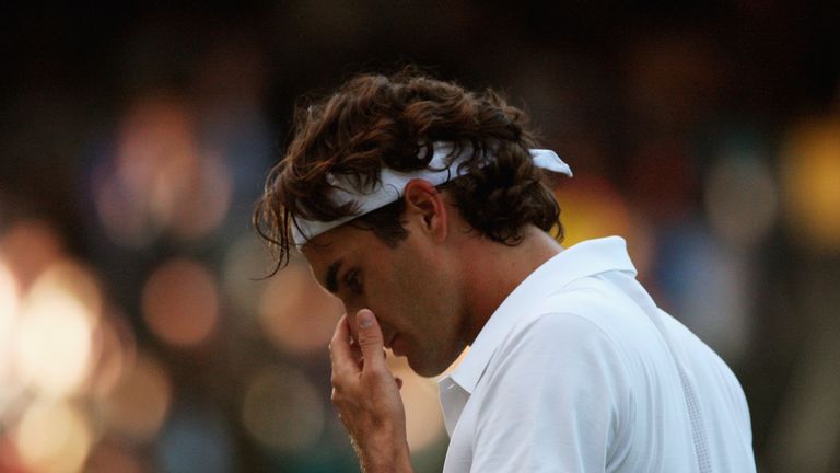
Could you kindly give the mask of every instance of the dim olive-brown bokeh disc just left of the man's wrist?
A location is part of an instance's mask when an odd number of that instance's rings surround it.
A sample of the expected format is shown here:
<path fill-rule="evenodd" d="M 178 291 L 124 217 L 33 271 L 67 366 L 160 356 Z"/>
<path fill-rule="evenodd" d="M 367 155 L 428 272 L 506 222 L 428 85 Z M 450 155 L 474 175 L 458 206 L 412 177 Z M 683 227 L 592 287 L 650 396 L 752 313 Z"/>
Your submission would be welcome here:
<path fill-rule="evenodd" d="M 319 394 L 298 368 L 265 368 L 245 391 L 242 408 L 245 429 L 271 450 L 290 452 L 312 447 L 325 424 Z"/>

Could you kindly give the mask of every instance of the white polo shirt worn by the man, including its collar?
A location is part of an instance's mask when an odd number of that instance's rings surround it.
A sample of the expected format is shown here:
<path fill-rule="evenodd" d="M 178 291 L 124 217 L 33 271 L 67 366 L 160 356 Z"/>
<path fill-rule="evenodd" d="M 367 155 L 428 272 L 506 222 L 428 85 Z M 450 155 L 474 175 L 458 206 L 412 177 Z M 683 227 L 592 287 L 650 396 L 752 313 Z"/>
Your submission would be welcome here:
<path fill-rule="evenodd" d="M 532 273 L 440 381 L 455 472 L 755 472 L 730 368 L 655 307 L 625 241 Z"/>

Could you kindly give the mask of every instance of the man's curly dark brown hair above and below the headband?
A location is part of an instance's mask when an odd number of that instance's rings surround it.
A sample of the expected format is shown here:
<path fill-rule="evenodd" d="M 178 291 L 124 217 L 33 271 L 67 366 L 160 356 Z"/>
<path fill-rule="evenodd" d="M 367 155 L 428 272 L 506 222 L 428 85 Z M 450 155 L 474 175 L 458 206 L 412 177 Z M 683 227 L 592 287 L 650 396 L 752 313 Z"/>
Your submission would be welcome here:
<path fill-rule="evenodd" d="M 459 164 L 467 173 L 439 188 L 448 192 L 481 235 L 516 245 L 523 227 L 532 223 L 553 229 L 562 240 L 560 208 L 528 153 L 536 143 L 527 122 L 523 111 L 491 89 L 470 92 L 416 69 L 392 77 L 357 76 L 326 99 L 299 105 L 293 140 L 269 172 L 253 217 L 277 258 L 275 272 L 294 247 L 295 217 L 330 221 L 358 214 L 352 203 L 337 206 L 328 198 L 328 174 L 371 185 L 384 166 L 402 172 L 427 168 L 435 141 L 454 145 L 450 159 L 471 147 L 471 157 Z M 404 210 L 399 199 L 348 224 L 396 246 L 407 236 Z"/>

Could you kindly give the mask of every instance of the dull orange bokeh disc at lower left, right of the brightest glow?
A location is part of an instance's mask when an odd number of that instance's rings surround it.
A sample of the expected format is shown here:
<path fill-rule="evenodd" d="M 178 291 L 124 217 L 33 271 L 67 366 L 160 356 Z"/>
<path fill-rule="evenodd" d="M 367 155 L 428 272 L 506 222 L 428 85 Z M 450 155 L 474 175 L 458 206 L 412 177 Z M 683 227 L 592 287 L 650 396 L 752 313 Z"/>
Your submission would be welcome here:
<path fill-rule="evenodd" d="M 172 384 L 161 364 L 140 353 L 131 369 L 100 404 L 105 427 L 135 441 L 148 441 L 160 430 L 172 403 Z"/>

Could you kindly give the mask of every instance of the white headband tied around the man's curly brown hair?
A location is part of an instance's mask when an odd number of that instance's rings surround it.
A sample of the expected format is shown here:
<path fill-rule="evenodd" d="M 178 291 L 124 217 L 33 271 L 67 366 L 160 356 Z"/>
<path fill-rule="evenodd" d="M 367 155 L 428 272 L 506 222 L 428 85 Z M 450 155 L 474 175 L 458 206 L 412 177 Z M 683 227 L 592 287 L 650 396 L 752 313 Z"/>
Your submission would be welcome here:
<path fill-rule="evenodd" d="M 352 182 L 348 176 L 327 174 L 327 181 L 332 185 L 331 200 L 336 206 L 342 206 L 353 203 L 357 212 L 354 215 L 340 218 L 338 220 L 318 221 L 306 220 L 295 217 L 292 222 L 292 238 L 294 244 L 299 247 L 308 240 L 331 230 L 340 224 L 361 217 L 368 212 L 385 207 L 396 201 L 402 196 L 402 191 L 409 182 L 419 178 L 436 186 L 452 178 L 460 177 L 467 173 L 466 168 L 459 166 L 472 153 L 472 148 L 465 146 L 460 154 L 446 164 L 446 158 L 451 154 L 453 143 L 436 141 L 433 143 L 434 154 L 429 162 L 429 166 L 423 170 L 411 172 L 398 172 L 388 168 L 383 168 L 380 174 L 380 182 L 368 189 L 361 189 L 361 184 Z M 532 149 L 530 157 L 534 159 L 534 165 L 548 171 L 559 172 L 571 177 L 572 170 L 564 163 L 560 157 L 551 150 Z"/>

